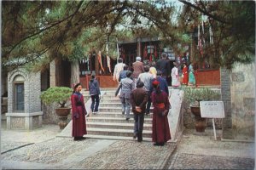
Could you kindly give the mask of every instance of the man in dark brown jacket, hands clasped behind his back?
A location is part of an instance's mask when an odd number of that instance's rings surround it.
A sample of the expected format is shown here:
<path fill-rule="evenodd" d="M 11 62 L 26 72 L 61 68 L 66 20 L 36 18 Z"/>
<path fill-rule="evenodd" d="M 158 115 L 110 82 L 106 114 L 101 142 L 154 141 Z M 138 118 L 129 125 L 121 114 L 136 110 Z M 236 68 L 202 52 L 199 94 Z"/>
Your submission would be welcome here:
<path fill-rule="evenodd" d="M 148 92 L 143 88 L 144 83 L 138 81 L 137 88 L 131 92 L 131 109 L 134 116 L 134 135 L 138 142 L 143 141 L 143 123 L 148 102 Z"/>

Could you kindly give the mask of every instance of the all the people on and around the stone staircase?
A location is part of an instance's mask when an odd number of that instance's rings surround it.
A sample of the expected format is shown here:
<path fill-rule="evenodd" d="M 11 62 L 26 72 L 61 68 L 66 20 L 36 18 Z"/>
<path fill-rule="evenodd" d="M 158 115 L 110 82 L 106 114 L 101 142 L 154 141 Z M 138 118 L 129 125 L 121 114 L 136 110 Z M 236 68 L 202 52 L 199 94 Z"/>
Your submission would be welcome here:
<path fill-rule="evenodd" d="M 171 108 L 169 102 L 169 90 L 167 80 L 169 74 L 169 60 L 167 55 L 162 54 L 161 59 L 155 65 L 144 65 L 141 57 L 136 58 L 132 63 L 132 69 L 123 63 L 123 59 L 118 59 L 118 64 L 114 67 L 113 81 L 119 82 L 115 95 L 119 95 L 122 103 L 122 114 L 129 121 L 130 111 L 133 112 L 134 134 L 133 139 L 138 142 L 143 140 L 144 116 L 149 114 L 150 106 L 153 105 L 153 126 L 152 140 L 154 145 L 164 145 L 171 139 L 170 128 L 167 115 Z M 180 86 L 177 64 L 173 63 L 172 86 Z M 183 65 L 183 83 L 186 85 L 195 84 L 193 66 Z M 86 124 L 84 116 L 87 114 L 84 107 L 84 97 L 80 93 L 82 86 L 80 83 L 74 86 L 71 96 L 73 112 L 73 132 L 74 140 L 84 139 Z M 90 110 L 93 114 L 98 113 L 101 91 L 95 75 L 91 75 L 89 82 L 91 98 Z"/>

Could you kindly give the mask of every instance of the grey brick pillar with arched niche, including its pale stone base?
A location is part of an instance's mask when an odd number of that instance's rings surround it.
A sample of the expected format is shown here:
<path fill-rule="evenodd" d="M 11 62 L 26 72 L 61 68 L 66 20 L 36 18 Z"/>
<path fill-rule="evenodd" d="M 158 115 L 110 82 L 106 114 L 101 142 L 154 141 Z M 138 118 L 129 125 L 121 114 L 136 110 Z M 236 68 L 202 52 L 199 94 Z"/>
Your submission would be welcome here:
<path fill-rule="evenodd" d="M 24 110 L 15 111 L 16 82 L 24 83 Z M 8 72 L 8 129 L 32 130 L 42 126 L 41 112 L 41 73 L 29 72 L 20 67 Z"/>

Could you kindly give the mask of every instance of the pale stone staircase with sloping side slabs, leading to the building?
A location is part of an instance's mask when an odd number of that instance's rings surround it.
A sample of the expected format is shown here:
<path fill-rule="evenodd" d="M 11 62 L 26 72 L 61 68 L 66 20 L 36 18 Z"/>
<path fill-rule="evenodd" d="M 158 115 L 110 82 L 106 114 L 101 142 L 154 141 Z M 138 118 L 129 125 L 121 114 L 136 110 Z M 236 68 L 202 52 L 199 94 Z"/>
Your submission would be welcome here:
<path fill-rule="evenodd" d="M 114 96 L 114 89 L 101 89 L 102 99 L 99 105 L 99 114 L 88 114 L 86 116 L 87 133 L 86 138 L 92 139 L 127 139 L 132 140 L 134 119 L 131 112 L 131 119 L 125 120 L 121 114 L 121 103 L 118 97 Z M 171 129 L 172 140 L 176 143 L 183 133 L 183 110 L 182 95 L 178 89 L 169 88 L 171 94 L 172 109 L 169 111 L 168 121 Z M 90 111 L 90 95 L 88 91 L 82 91 L 86 111 Z M 152 141 L 152 107 L 151 113 L 145 116 L 143 126 L 143 141 Z M 67 124 L 57 137 L 71 138 L 72 121 Z"/>

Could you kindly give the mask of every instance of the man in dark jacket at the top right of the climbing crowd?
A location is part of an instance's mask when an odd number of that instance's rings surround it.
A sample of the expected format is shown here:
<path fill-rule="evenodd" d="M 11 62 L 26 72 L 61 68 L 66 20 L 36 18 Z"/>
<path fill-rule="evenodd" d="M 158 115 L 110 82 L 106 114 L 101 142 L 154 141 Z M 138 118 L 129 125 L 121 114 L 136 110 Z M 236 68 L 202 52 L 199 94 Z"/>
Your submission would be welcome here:
<path fill-rule="evenodd" d="M 155 65 L 157 71 L 162 72 L 162 77 L 166 79 L 169 79 L 168 77 L 171 77 L 171 70 L 170 70 L 170 62 L 167 59 L 167 54 L 162 54 L 162 59 L 159 59 Z"/>

